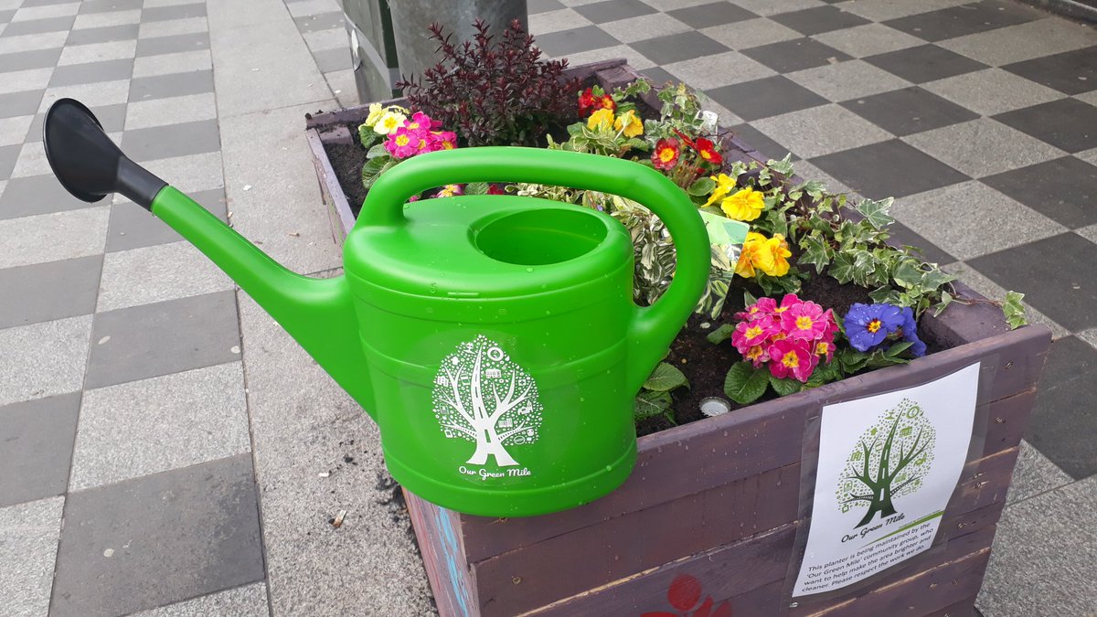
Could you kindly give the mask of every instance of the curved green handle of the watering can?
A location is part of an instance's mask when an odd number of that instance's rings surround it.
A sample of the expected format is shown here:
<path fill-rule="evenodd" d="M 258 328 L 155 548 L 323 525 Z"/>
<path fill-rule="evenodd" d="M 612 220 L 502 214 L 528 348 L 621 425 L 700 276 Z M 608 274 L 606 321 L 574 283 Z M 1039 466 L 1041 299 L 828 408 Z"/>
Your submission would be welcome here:
<path fill-rule="evenodd" d="M 409 195 L 465 182 L 531 182 L 612 193 L 643 204 L 666 224 L 677 254 L 674 281 L 653 305 L 635 307 L 630 326 L 627 384 L 640 390 L 709 279 L 709 235 L 686 192 L 658 171 L 619 158 L 541 148 L 461 148 L 423 154 L 386 171 L 370 188 L 358 225 L 404 225 Z"/>

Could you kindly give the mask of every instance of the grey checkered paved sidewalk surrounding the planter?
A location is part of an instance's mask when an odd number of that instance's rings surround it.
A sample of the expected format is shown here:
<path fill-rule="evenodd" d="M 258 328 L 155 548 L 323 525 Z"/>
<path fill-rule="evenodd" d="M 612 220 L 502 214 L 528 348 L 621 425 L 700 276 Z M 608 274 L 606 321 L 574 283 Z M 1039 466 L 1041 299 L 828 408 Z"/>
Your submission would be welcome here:
<path fill-rule="evenodd" d="M 912 244 L 976 289 L 1029 294 L 1058 339 L 980 607 L 1097 612 L 1097 34 L 1005 0 L 530 13 L 547 53 L 702 89 L 803 175 L 898 197 Z M 68 197 L 41 145 L 78 98 L 330 276 L 303 115 L 357 102 L 349 66 L 335 0 L 0 0 L 0 615 L 433 613 L 369 418 L 144 210 Z"/>

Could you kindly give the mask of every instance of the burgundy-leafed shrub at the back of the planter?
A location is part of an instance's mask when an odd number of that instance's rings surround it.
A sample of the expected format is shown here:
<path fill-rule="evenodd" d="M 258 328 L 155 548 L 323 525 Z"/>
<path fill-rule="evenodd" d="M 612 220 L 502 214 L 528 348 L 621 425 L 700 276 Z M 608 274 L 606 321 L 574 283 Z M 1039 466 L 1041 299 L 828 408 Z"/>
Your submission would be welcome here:
<path fill-rule="evenodd" d="M 411 103 L 464 138 L 470 146 L 544 146 L 543 136 L 575 119 L 578 82 L 563 82 L 567 60 L 542 60 L 533 36 L 514 20 L 494 42 L 482 20 L 460 45 L 439 24 L 430 25 L 442 61 L 396 83 Z"/>

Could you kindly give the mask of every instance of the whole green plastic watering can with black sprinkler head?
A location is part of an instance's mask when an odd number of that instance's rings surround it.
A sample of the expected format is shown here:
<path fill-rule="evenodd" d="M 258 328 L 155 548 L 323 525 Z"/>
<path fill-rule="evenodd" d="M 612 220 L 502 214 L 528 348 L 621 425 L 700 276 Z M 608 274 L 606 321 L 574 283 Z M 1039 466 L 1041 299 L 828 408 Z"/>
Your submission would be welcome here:
<path fill-rule="evenodd" d="M 88 202 L 122 193 L 191 242 L 376 420 L 393 478 L 459 512 L 546 514 L 624 482 L 636 458 L 633 397 L 709 274 L 697 207 L 631 161 L 519 147 L 417 156 L 370 189 L 344 243 L 346 273 L 312 279 L 127 159 L 79 102 L 54 103 L 44 133 L 69 192 Z M 674 282 L 636 306 L 629 233 L 590 209 L 517 195 L 406 203 L 459 182 L 637 201 L 674 236 Z"/>

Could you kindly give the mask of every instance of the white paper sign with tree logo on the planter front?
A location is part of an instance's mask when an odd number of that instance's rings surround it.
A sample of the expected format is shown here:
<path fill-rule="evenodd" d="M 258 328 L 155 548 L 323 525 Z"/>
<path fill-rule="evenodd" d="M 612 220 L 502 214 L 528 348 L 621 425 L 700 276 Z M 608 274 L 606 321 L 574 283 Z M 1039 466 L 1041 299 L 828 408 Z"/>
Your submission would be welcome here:
<path fill-rule="evenodd" d="M 979 363 L 823 407 L 807 546 L 793 596 L 829 592 L 928 549 L 971 442 Z"/>

